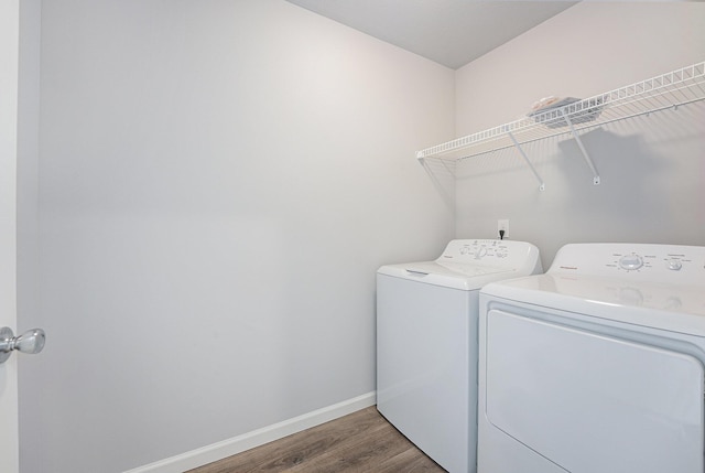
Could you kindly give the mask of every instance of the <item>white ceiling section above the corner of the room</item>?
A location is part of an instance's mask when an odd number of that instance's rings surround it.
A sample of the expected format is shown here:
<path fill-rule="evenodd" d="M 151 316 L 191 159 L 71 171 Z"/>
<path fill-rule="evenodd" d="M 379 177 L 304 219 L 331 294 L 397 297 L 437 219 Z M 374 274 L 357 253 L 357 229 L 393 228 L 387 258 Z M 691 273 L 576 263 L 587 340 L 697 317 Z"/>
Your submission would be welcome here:
<path fill-rule="evenodd" d="M 574 1 L 288 0 L 456 69 Z"/>

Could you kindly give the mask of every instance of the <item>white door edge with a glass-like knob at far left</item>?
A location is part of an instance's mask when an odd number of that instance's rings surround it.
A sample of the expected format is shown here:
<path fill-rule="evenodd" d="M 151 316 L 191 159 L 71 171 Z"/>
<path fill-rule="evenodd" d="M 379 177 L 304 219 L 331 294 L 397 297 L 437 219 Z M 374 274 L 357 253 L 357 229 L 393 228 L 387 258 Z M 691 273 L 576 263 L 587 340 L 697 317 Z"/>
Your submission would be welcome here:
<path fill-rule="evenodd" d="M 0 0 L 0 327 L 17 332 L 19 0 Z M 19 472 L 17 355 L 0 365 L 0 471 Z"/>

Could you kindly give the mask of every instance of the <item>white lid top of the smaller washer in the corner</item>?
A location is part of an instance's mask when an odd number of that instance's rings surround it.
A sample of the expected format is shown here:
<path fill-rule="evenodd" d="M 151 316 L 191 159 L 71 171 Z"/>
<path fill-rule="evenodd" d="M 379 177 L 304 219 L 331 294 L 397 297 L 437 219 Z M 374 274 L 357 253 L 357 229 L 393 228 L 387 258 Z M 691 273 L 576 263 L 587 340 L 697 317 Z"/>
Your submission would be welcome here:
<path fill-rule="evenodd" d="M 377 273 L 426 284 L 471 291 L 491 281 L 518 277 L 514 268 L 497 268 L 457 262 L 421 261 L 382 266 Z"/>

